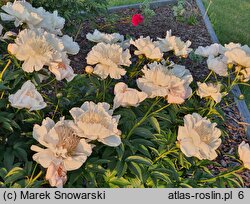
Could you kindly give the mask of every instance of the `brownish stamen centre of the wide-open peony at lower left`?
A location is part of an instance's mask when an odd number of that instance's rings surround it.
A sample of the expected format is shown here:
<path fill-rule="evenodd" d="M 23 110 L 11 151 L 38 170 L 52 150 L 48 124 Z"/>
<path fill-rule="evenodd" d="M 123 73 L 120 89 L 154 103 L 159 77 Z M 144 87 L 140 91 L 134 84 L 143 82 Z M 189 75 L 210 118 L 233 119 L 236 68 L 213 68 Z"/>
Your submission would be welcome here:
<path fill-rule="evenodd" d="M 72 128 L 64 125 L 55 127 L 55 130 L 59 136 L 57 147 L 66 149 L 67 154 L 72 155 L 80 141 L 78 135 Z"/>

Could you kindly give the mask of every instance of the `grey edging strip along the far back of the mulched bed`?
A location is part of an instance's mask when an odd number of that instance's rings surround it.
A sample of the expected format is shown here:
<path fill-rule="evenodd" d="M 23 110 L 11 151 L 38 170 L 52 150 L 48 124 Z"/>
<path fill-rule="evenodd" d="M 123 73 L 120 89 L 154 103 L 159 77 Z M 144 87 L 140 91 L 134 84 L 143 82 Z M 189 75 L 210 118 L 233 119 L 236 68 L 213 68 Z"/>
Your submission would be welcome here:
<path fill-rule="evenodd" d="M 168 4 L 175 4 L 175 3 L 177 3 L 177 0 L 158 0 L 158 1 L 150 2 L 150 7 L 155 8 L 155 7 L 160 7 L 160 6 L 164 6 Z M 142 3 L 123 5 L 123 6 L 114 6 L 114 7 L 108 8 L 108 10 L 110 12 L 114 12 L 114 11 L 119 11 L 122 9 L 137 9 L 137 8 L 140 8 L 141 5 Z"/>

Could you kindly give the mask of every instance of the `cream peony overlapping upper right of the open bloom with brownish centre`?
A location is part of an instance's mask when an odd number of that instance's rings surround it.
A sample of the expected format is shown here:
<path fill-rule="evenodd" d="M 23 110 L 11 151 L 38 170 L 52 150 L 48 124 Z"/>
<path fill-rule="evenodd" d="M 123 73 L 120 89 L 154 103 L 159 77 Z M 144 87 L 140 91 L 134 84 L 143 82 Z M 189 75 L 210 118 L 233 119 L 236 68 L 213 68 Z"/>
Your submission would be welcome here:
<path fill-rule="evenodd" d="M 85 102 L 81 108 L 72 108 L 70 114 L 84 138 L 113 147 L 121 144 L 121 132 L 117 129 L 120 116 L 112 116 L 108 103 Z"/>

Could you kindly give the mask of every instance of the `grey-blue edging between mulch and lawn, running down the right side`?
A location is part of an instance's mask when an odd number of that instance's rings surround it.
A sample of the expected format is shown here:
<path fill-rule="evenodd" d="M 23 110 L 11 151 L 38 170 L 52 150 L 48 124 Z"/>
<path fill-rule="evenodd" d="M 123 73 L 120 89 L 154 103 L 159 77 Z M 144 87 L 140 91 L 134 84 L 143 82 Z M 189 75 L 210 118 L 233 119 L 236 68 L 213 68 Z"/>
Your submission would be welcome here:
<path fill-rule="evenodd" d="M 196 3 L 201 11 L 201 14 L 203 16 L 203 20 L 205 22 L 205 25 L 207 27 L 207 30 L 208 30 L 210 36 L 211 36 L 212 41 L 214 43 L 219 43 L 218 37 L 216 36 L 216 33 L 213 29 L 213 26 L 209 20 L 209 17 L 206 13 L 206 9 L 205 9 L 205 6 L 204 6 L 202 0 L 196 0 Z M 247 124 L 246 125 L 246 134 L 247 134 L 248 140 L 250 140 L 250 112 L 248 110 L 248 107 L 246 105 L 245 100 L 239 99 L 239 97 L 242 93 L 241 93 L 238 85 L 234 86 L 232 93 L 234 94 L 234 100 L 235 100 L 237 107 L 240 111 L 240 115 L 243 118 L 244 122 Z"/>

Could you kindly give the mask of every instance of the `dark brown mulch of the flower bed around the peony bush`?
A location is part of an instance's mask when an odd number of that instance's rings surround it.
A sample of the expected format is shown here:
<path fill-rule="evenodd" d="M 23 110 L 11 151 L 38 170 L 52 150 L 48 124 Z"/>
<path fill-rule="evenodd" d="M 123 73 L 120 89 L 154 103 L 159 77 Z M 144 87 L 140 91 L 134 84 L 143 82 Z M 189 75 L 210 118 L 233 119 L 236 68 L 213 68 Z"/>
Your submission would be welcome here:
<path fill-rule="evenodd" d="M 81 51 L 78 55 L 72 57 L 72 67 L 75 68 L 77 73 L 84 72 L 83 70 L 87 65 L 85 57 L 94 45 L 89 42 L 85 36 L 87 33 L 93 32 L 95 28 L 107 33 L 118 32 L 124 36 L 133 36 L 135 38 L 140 36 L 150 36 L 153 39 L 156 39 L 157 37 L 164 38 L 166 31 L 171 29 L 173 35 L 181 37 L 184 41 L 190 40 L 192 42 L 191 47 L 194 49 L 198 46 L 210 45 L 212 41 L 205 27 L 202 16 L 199 14 L 199 10 L 196 7 L 195 1 L 190 1 L 190 5 L 192 6 L 192 12 L 197 14 L 198 24 L 195 26 L 176 21 L 173 15 L 172 6 L 164 6 L 154 9 L 156 15 L 153 16 L 148 23 L 138 27 L 132 26 L 130 22 L 133 14 L 140 13 L 140 10 L 138 9 L 124 9 L 116 12 L 115 14 L 119 16 L 119 18 L 116 18 L 116 21 L 113 23 L 110 23 L 110 21 L 104 17 L 98 18 L 94 26 L 93 22 L 83 22 L 82 31 L 77 38 Z M 190 9 L 190 7 L 188 9 Z M 189 59 L 180 62 L 180 64 L 185 65 L 186 68 L 191 71 L 194 78 L 199 81 L 209 73 L 209 70 L 206 68 L 205 60 L 202 64 L 195 66 L 192 65 L 191 60 Z M 232 96 L 229 100 L 233 103 Z M 223 172 L 226 170 L 227 166 L 232 166 L 234 161 L 225 156 L 225 154 L 235 155 L 237 147 L 242 140 L 247 141 L 244 125 L 242 123 L 243 120 L 239 115 L 236 105 L 233 104 L 230 107 L 225 107 L 223 109 L 226 113 L 225 128 L 228 130 L 229 137 L 224 139 L 224 143 L 219 148 L 219 151 L 223 152 L 223 154 L 218 156 L 217 162 L 221 163 L 225 169 L 211 167 L 214 168 L 213 170 L 215 172 Z M 250 187 L 250 171 L 244 171 L 241 175 L 245 180 L 246 187 Z"/>

